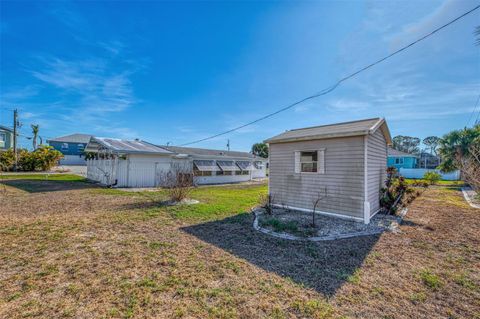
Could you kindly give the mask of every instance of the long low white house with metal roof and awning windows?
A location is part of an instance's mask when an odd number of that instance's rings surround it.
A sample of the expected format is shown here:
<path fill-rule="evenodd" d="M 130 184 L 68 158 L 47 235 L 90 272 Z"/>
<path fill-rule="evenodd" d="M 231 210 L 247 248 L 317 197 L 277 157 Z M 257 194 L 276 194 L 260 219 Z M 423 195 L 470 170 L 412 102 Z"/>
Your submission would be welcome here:
<path fill-rule="evenodd" d="M 223 184 L 266 177 L 266 159 L 247 152 L 162 146 L 146 141 L 92 137 L 85 151 L 87 178 L 115 187 L 162 186 L 162 175 L 175 165 L 194 183 Z"/>

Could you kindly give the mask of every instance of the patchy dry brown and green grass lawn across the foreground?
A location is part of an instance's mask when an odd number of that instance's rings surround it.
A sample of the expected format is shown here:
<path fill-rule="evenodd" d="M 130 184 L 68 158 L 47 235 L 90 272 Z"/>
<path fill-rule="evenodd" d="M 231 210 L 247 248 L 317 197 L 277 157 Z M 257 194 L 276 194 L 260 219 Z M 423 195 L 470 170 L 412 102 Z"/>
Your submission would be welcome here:
<path fill-rule="evenodd" d="M 0 182 L 0 318 L 480 315 L 479 212 L 454 187 L 425 191 L 400 233 L 309 243 L 252 229 L 266 185 L 165 207 L 56 178 Z"/>

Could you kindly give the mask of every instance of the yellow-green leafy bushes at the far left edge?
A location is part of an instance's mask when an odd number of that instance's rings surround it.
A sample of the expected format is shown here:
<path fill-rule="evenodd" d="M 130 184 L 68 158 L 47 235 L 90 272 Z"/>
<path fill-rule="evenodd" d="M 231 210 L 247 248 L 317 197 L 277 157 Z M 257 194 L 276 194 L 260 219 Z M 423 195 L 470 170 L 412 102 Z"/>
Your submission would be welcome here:
<path fill-rule="evenodd" d="M 51 146 L 41 145 L 35 151 L 20 149 L 17 151 L 17 170 L 48 171 L 63 157 L 63 154 Z M 0 153 L 0 167 L 5 171 L 13 170 L 15 154 L 12 149 Z"/>

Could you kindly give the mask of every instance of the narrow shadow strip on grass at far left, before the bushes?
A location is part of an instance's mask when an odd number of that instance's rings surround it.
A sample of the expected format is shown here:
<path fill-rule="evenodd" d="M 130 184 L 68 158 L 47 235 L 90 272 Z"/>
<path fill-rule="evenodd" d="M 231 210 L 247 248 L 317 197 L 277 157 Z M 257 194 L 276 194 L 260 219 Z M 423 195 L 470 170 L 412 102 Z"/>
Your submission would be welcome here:
<path fill-rule="evenodd" d="M 55 181 L 41 179 L 0 180 L 0 184 L 14 187 L 29 193 L 58 192 L 99 187 L 84 181 Z"/>

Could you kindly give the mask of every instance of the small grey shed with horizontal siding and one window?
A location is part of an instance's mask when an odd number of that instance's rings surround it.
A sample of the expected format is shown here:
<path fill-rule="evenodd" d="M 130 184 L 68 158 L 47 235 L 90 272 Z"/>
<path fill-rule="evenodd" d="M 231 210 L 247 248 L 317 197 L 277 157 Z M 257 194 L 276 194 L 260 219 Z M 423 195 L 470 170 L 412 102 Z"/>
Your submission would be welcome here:
<path fill-rule="evenodd" d="M 392 140 L 384 119 L 289 130 L 269 144 L 269 195 L 275 205 L 370 222 Z"/>

